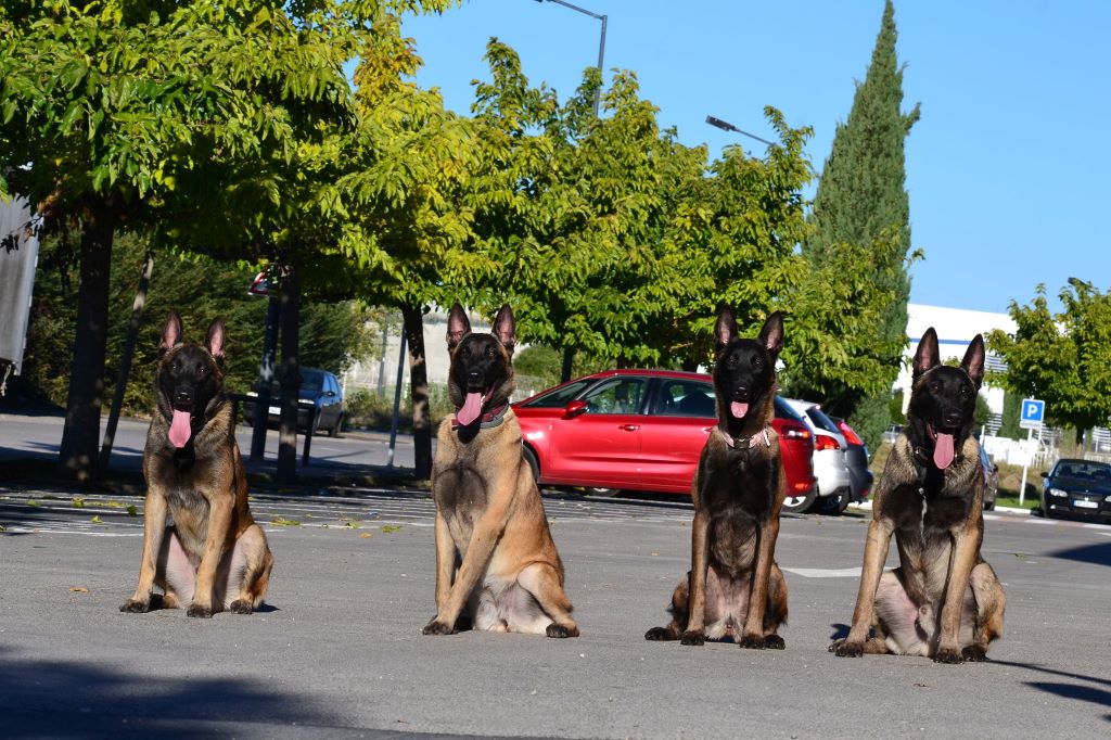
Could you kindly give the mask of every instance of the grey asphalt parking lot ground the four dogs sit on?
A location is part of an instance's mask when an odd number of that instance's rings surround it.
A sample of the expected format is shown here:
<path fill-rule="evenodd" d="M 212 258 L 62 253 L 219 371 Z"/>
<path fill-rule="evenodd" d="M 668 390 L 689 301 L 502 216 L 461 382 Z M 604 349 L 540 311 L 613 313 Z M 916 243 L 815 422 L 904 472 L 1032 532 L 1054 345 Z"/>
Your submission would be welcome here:
<path fill-rule="evenodd" d="M 421 491 L 257 490 L 276 557 L 264 608 L 122 614 L 141 499 L 0 486 L 6 737 L 1107 737 L 1111 528 L 989 514 L 1008 594 L 991 661 L 839 659 L 867 512 L 783 520 L 787 650 L 642 639 L 688 568 L 681 500 L 548 494 L 582 637 L 423 637 Z M 77 500 L 74 497 L 79 497 Z M 129 511 L 128 507 L 134 507 Z M 852 511 L 852 510 L 850 510 Z M 890 561 L 893 562 L 893 561 Z"/>

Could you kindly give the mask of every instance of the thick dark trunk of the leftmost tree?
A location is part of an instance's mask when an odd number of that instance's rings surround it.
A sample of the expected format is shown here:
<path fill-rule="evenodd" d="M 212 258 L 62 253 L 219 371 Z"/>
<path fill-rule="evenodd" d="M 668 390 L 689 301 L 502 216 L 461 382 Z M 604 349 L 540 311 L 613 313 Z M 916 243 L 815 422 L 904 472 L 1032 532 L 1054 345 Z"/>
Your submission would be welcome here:
<path fill-rule="evenodd" d="M 97 203 L 86 212 L 81 231 L 81 287 L 77 336 L 70 368 L 66 427 L 58 453 L 59 472 L 88 483 L 99 478 L 100 408 L 108 344 L 108 294 L 116 210 Z"/>

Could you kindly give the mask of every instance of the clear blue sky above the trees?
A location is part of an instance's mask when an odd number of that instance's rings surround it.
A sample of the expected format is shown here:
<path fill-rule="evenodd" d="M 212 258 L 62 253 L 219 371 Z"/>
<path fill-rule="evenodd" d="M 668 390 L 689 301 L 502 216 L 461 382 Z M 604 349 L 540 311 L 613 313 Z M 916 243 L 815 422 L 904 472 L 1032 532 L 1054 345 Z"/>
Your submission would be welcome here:
<path fill-rule="evenodd" d="M 882 0 L 572 0 L 605 14 L 604 67 L 633 70 L 660 123 L 711 158 L 763 144 L 708 126 L 708 114 L 774 139 L 764 106 L 810 126 L 817 170 L 863 80 Z M 911 301 L 1005 312 L 1039 282 L 1053 306 L 1070 277 L 1108 290 L 1111 200 L 1111 2 L 901 0 L 903 109 L 922 103 L 907 140 L 913 246 Z M 513 47 L 533 84 L 564 99 L 597 64 L 601 23 L 553 2 L 464 0 L 409 19 L 422 87 L 467 112 L 487 79 L 487 40 Z M 609 79 L 609 73 L 607 73 Z M 808 192 L 808 196 L 812 194 Z"/>

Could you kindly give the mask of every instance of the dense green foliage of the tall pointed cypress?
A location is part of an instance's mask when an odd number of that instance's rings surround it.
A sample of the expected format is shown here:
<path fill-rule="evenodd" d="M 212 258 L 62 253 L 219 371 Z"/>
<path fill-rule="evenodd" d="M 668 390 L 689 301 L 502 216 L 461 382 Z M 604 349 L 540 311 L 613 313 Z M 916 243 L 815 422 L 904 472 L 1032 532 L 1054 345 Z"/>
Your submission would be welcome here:
<path fill-rule="evenodd" d="M 919 107 L 900 110 L 895 40 L 888 0 L 868 74 L 848 121 L 837 128 L 814 196 L 813 232 L 803 246 L 814 270 L 810 290 L 803 291 L 811 300 L 800 314 L 808 324 L 821 322 L 825 333 L 811 348 L 817 354 L 809 356 L 818 363 L 797 379 L 800 394 L 825 400 L 872 447 L 890 422 L 887 399 L 905 344 L 907 270 L 918 257 L 911 253 L 903 143 Z M 837 287 L 841 280 L 851 283 L 853 296 Z M 822 296 L 832 299 L 830 306 L 821 306 Z M 834 317 L 838 311 L 847 314 Z M 845 341 L 827 343 L 823 337 Z"/>

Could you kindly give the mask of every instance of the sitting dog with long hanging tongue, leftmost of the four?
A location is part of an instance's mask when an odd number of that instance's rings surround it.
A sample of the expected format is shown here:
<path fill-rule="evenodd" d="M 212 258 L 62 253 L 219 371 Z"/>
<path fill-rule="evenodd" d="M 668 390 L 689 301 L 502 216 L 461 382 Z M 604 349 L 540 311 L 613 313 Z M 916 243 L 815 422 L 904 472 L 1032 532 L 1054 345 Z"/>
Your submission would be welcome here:
<path fill-rule="evenodd" d="M 212 322 L 204 344 L 182 343 L 181 319 L 162 329 L 154 378 L 157 410 L 147 432 L 142 562 L 134 594 L 120 611 L 188 604 L 190 617 L 262 603 L 273 557 L 251 519 L 234 418 L 223 392 L 224 327 Z M 173 524 L 167 526 L 167 514 Z"/>

